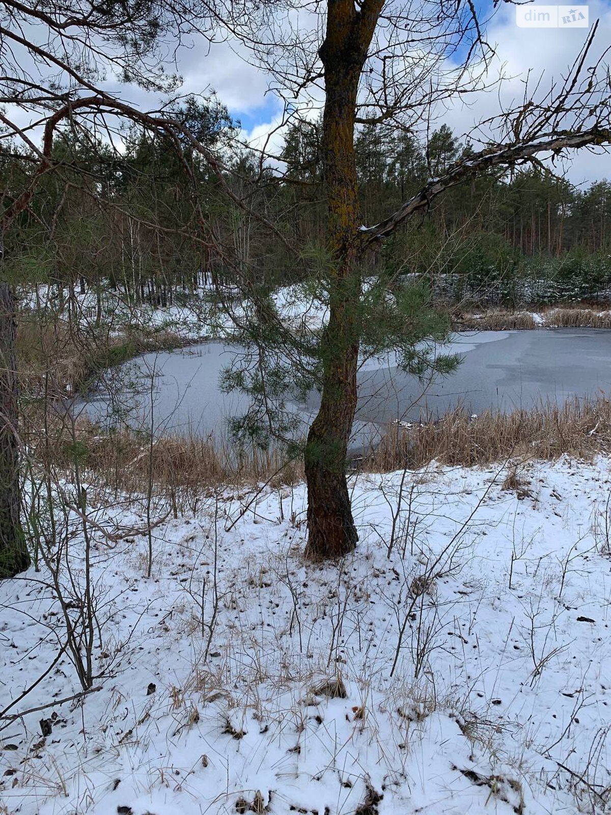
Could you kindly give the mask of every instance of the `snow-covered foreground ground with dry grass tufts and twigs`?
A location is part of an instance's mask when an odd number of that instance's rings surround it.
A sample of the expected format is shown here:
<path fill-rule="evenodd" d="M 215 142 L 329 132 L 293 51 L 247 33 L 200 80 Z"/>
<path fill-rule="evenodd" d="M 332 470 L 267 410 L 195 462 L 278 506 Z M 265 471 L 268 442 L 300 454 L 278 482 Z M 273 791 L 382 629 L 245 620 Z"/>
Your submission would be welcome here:
<path fill-rule="evenodd" d="M 324 566 L 302 485 L 225 491 L 154 528 L 151 579 L 144 506 L 90 486 L 91 693 L 59 701 L 46 567 L 0 584 L 0 812 L 602 812 L 611 463 L 507 474 L 354 476 L 358 549 Z M 53 540 L 76 620 L 77 513 Z"/>

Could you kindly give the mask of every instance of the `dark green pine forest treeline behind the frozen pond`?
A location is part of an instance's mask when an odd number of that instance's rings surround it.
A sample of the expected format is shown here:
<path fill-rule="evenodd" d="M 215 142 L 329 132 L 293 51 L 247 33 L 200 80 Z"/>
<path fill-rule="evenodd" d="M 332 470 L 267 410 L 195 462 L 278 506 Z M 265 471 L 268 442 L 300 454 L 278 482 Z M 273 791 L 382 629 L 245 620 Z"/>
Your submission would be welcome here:
<path fill-rule="evenodd" d="M 53 156 L 61 171 L 38 182 L 7 236 L 7 272 L 16 283 L 51 284 L 60 307 L 88 291 L 101 303 L 108 289 L 169 306 L 235 275 L 270 286 L 303 277 L 324 239 L 320 122 L 288 126 L 281 161 L 271 167 L 240 143 L 221 104 L 187 100 L 174 115 L 224 157 L 222 173 L 187 145 L 181 155 L 158 132 L 132 126 L 116 149 L 82 126 L 64 128 Z M 366 227 L 471 151 L 445 125 L 424 141 L 365 126 L 355 146 Z M 35 167 L 33 156 L 5 144 L 4 206 Z M 364 262 L 389 275 L 428 275 L 437 293 L 455 301 L 596 297 L 611 287 L 610 222 L 607 180 L 577 188 L 543 165 L 489 171 L 437 198 Z"/>

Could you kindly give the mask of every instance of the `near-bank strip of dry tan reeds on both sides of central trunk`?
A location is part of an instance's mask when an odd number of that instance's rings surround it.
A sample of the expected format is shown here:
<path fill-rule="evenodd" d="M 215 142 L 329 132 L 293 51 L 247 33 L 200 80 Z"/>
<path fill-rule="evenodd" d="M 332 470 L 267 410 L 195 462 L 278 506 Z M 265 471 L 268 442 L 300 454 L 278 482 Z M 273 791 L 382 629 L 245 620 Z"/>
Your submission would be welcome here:
<path fill-rule="evenodd" d="M 35 428 L 29 434 L 35 460 L 68 469 L 75 456 L 104 484 L 124 492 L 142 492 L 151 478 L 157 490 L 173 500 L 222 485 L 267 482 L 272 487 L 295 484 L 304 477 L 301 460 L 286 462 L 280 452 L 256 448 L 240 456 L 227 443 L 212 438 L 138 437 L 127 430 L 101 433 L 79 421 L 74 434 L 61 422 L 45 441 Z M 463 408 L 439 421 L 411 427 L 393 425 L 361 462 L 367 472 L 407 467 L 419 469 L 437 460 L 455 466 L 487 465 L 511 457 L 553 460 L 567 455 L 589 460 L 611 454 L 611 401 L 604 397 L 546 403 L 512 413 L 486 412 L 471 418 Z"/>

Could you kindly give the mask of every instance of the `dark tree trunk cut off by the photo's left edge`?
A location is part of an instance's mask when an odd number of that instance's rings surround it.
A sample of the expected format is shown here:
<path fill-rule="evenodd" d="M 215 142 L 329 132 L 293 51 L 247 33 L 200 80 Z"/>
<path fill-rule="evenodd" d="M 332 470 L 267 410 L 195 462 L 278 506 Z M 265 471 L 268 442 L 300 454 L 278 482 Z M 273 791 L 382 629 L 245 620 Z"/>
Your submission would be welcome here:
<path fill-rule="evenodd" d="M 11 286 L 0 281 L 0 578 L 29 566 L 19 518 L 17 418 L 15 300 Z"/>

